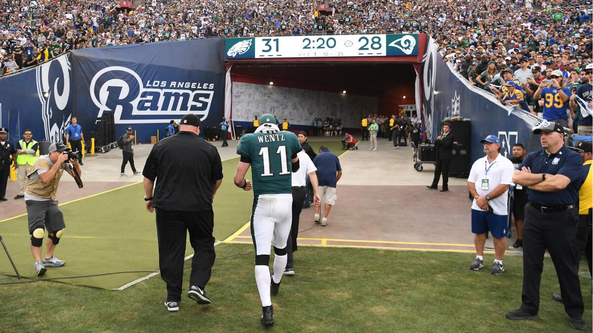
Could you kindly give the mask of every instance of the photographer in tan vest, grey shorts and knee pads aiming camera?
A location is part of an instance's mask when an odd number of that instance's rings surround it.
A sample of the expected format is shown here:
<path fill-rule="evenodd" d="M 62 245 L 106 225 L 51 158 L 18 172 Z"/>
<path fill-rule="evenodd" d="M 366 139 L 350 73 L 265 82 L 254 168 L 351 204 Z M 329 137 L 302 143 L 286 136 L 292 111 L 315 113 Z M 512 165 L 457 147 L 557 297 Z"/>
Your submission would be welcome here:
<path fill-rule="evenodd" d="M 69 156 L 71 155 L 71 156 Z M 68 163 L 68 159 L 69 162 Z M 81 175 L 78 159 L 63 143 L 52 143 L 47 155 L 39 156 L 33 169 L 27 175 L 25 205 L 27 206 L 29 233 L 31 234 L 31 253 L 35 259 L 33 267 L 37 276 L 43 275 L 47 268 L 59 267 L 65 261 L 53 256 L 56 245 L 60 242 L 63 229 L 66 228 L 62 211 L 58 207 L 58 183 L 64 171 L 76 178 L 73 166 Z M 41 258 L 44 228 L 47 228 L 46 251 Z"/>

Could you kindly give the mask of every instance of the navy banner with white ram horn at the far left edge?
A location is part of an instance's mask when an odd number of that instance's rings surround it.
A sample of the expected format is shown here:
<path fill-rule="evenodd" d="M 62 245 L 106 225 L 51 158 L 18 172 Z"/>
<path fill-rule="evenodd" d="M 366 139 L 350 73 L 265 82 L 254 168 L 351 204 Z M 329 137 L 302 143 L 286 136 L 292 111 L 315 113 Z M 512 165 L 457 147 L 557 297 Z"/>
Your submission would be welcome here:
<path fill-rule="evenodd" d="M 66 54 L 33 69 L 0 79 L 0 127 L 8 139 L 63 141 L 72 111 L 71 55 Z"/>

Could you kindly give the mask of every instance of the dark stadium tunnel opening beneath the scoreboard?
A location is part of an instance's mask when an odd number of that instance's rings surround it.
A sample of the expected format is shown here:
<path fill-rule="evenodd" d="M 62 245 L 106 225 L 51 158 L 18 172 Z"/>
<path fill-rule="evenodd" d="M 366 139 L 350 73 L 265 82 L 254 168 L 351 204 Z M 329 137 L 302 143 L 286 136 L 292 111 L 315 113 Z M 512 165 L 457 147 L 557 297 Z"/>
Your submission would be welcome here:
<path fill-rule="evenodd" d="M 340 118 L 344 130 L 356 131 L 364 114 L 416 110 L 420 63 L 299 60 L 227 63 L 225 114 L 234 126 L 249 131 L 254 116 L 272 113 L 293 132 L 309 131 L 317 117 Z"/>

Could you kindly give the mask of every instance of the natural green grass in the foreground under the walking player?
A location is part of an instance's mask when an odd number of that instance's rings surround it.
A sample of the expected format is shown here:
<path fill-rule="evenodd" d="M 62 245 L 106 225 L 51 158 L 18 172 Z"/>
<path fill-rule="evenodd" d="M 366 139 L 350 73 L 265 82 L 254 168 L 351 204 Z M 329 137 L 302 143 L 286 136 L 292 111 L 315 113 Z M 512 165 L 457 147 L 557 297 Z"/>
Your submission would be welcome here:
<path fill-rule="evenodd" d="M 217 257 L 253 246 L 222 244 Z M 281 332 L 568 332 L 568 316 L 551 300 L 558 291 L 546 258 L 541 319 L 510 321 L 521 303 L 521 257 L 505 258 L 506 271 L 467 269 L 473 255 L 301 246 L 295 276 L 284 277 L 272 297 Z M 4 332 L 262 331 L 253 253 L 217 260 L 206 292 L 212 305 L 183 297 L 180 311 L 162 303 L 165 284 L 153 277 L 123 292 L 58 283 L 0 285 Z M 585 266 L 581 271 L 586 270 Z M 581 275 L 582 277 L 582 275 Z M 185 271 L 184 289 L 188 287 Z M 0 276 L 0 283 L 15 281 Z M 584 318 L 591 326 L 591 280 L 581 278 Z"/>

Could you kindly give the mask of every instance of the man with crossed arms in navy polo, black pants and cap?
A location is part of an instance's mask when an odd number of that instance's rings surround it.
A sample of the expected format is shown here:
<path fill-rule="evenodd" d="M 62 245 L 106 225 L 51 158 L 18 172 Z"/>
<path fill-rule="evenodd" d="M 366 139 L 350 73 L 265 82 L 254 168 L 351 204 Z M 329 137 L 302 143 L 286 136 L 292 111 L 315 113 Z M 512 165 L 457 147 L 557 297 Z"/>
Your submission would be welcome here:
<path fill-rule="evenodd" d="M 542 120 L 533 133 L 540 135 L 541 151 L 527 155 L 513 182 L 528 187 L 523 224 L 522 304 L 506 313 L 509 319 L 538 319 L 540 281 L 546 249 L 556 267 L 570 326 L 585 329 L 581 285 L 576 265 L 578 191 L 583 180 L 583 159 L 564 146 L 561 124 Z"/>

